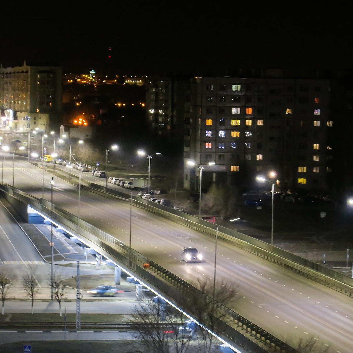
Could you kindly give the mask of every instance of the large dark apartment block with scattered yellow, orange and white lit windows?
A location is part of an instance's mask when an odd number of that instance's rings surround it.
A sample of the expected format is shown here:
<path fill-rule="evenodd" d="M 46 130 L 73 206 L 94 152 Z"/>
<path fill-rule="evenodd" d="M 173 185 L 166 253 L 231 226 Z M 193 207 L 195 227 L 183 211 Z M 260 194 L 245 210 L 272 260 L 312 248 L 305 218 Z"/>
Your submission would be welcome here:
<path fill-rule="evenodd" d="M 328 79 L 204 77 L 190 83 L 185 116 L 184 187 L 211 182 L 249 188 L 276 173 L 282 190 L 325 190 L 332 171 Z M 197 166 L 193 169 L 187 160 Z M 215 162 L 214 165 L 208 165 Z M 275 181 L 274 180 L 274 181 Z"/>

